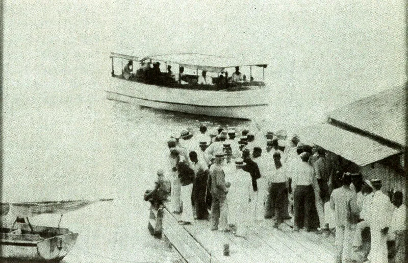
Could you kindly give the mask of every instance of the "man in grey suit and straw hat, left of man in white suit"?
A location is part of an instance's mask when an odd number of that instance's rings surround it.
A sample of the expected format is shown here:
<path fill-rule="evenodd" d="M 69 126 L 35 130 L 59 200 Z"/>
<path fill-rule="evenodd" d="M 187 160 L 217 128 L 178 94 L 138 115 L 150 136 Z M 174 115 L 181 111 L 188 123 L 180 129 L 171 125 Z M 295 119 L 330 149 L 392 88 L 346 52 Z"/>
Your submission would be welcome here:
<path fill-rule="evenodd" d="M 211 176 L 211 230 L 218 230 L 218 225 L 221 231 L 228 231 L 227 214 L 228 206 L 226 195 L 228 193 L 229 183 L 225 182 L 225 174 L 222 168 L 225 155 L 223 152 L 215 154 L 215 160 L 210 168 Z"/>

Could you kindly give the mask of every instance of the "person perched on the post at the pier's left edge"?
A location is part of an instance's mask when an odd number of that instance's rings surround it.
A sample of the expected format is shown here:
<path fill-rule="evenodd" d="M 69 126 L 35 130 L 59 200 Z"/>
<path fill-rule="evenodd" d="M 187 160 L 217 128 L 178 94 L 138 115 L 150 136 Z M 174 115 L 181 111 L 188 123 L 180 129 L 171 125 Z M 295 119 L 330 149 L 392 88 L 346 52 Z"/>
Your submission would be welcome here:
<path fill-rule="evenodd" d="M 170 194 L 170 182 L 164 180 L 163 170 L 157 171 L 157 180 L 152 190 L 144 192 L 143 199 L 149 201 L 155 208 L 159 208 Z"/>

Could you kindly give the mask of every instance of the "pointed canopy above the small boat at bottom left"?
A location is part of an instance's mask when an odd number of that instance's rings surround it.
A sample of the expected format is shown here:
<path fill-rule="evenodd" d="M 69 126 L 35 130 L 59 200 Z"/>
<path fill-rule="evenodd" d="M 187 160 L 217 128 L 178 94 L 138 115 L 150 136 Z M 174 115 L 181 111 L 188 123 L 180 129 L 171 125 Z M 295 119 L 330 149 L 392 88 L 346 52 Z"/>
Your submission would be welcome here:
<path fill-rule="evenodd" d="M 112 199 L 73 200 L 73 201 L 50 201 L 50 202 L 24 202 L 2 204 L 2 209 L 10 205 L 10 211 L 19 217 L 32 217 L 42 213 L 64 214 L 85 207 L 99 201 L 111 201 Z"/>

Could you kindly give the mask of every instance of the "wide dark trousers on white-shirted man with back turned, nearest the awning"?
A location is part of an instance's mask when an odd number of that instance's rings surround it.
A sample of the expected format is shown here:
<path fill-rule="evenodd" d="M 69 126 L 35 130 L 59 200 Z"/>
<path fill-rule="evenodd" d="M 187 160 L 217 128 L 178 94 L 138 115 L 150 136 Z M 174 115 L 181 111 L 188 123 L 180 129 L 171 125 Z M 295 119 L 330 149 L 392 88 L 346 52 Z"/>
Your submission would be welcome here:
<path fill-rule="evenodd" d="M 315 206 L 315 192 L 312 185 L 297 185 L 293 193 L 294 225 L 297 228 L 314 228 L 313 208 Z"/>

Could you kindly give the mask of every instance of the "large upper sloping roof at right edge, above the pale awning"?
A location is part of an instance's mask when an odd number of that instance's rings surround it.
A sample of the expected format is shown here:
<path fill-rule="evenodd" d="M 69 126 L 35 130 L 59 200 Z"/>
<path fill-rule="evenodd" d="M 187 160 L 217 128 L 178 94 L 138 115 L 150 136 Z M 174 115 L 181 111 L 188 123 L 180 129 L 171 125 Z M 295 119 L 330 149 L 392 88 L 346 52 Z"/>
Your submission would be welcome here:
<path fill-rule="evenodd" d="M 405 86 L 345 105 L 329 113 L 329 118 L 373 135 L 397 142 L 405 142 Z"/>

